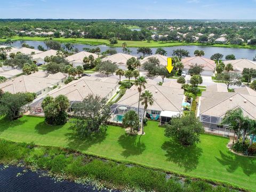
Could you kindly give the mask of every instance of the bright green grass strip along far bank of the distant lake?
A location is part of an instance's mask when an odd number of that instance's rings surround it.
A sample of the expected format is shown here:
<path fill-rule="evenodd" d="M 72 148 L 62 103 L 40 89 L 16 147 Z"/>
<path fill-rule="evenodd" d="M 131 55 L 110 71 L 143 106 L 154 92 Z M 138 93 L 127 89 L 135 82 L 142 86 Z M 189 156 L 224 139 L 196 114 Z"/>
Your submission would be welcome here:
<path fill-rule="evenodd" d="M 45 37 L 23 37 L 20 38 L 15 36 L 12 38 L 13 41 L 44 41 Z M 117 44 L 110 45 L 108 39 L 93 39 L 93 38 L 54 38 L 55 41 L 59 41 L 61 43 L 81 43 L 81 44 L 89 44 L 89 45 L 108 45 L 113 47 L 121 47 L 123 42 L 127 43 L 128 47 L 168 47 L 168 46 L 180 46 L 180 45 L 196 45 L 196 46 L 213 46 L 213 47 L 233 47 L 233 48 L 244 48 L 244 49 L 256 49 L 256 46 L 253 45 L 230 45 L 230 44 L 214 44 L 214 45 L 206 45 L 204 43 L 185 43 L 185 42 L 154 42 L 151 41 L 148 43 L 147 41 L 124 41 L 119 40 Z M 5 42 L 6 39 L 0 39 L 0 42 Z"/>

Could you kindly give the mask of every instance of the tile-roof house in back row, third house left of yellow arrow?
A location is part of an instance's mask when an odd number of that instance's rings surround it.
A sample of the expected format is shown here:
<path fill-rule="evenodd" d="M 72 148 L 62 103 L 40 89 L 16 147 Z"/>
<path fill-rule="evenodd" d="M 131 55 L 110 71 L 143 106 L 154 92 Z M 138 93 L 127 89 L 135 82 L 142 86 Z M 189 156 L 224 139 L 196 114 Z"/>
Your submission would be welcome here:
<path fill-rule="evenodd" d="M 97 59 L 99 57 L 95 53 L 81 51 L 81 52 L 78 52 L 78 53 L 75 53 L 73 55 L 66 57 L 66 60 L 68 60 L 70 63 L 72 63 L 73 67 L 83 66 L 84 65 L 83 59 L 85 57 L 89 57 L 90 55 L 92 55 L 94 57 L 94 59 Z"/>

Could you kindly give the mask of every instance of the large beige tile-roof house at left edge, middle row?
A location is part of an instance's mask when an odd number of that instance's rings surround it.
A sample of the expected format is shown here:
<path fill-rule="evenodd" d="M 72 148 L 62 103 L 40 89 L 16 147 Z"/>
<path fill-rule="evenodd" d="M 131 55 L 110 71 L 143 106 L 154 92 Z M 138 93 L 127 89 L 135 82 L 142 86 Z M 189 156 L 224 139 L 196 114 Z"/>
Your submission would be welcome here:
<path fill-rule="evenodd" d="M 58 74 L 59 76 L 59 74 Z M 21 75 L 9 81 L 0 84 L 0 89 L 10 93 L 36 93 L 37 95 L 45 94 L 52 90 L 54 85 L 63 83 L 61 79 L 49 77 L 36 77 L 30 75 Z"/>

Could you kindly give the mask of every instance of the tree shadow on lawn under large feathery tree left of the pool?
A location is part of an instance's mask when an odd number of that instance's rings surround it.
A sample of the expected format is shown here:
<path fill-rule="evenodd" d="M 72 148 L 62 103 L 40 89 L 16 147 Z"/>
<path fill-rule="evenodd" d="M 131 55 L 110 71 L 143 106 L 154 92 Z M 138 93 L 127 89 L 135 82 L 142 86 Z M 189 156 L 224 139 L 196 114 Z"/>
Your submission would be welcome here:
<path fill-rule="evenodd" d="M 66 133 L 65 134 L 68 140 L 68 147 L 71 149 L 77 150 L 86 150 L 92 145 L 97 143 L 101 143 L 107 137 L 107 132 L 102 132 L 98 134 L 94 134 L 87 138 L 80 138 L 76 134 L 76 132 Z"/>

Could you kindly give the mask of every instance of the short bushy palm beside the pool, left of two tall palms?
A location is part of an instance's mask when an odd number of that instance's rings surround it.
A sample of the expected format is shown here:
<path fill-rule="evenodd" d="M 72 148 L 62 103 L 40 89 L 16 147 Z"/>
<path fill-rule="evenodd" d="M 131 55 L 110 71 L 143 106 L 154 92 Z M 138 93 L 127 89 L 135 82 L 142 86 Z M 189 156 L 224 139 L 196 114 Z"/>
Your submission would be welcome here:
<path fill-rule="evenodd" d="M 124 114 L 123 117 L 123 126 L 130 127 L 131 133 L 140 126 L 139 116 L 134 110 L 129 110 L 127 113 Z"/>

